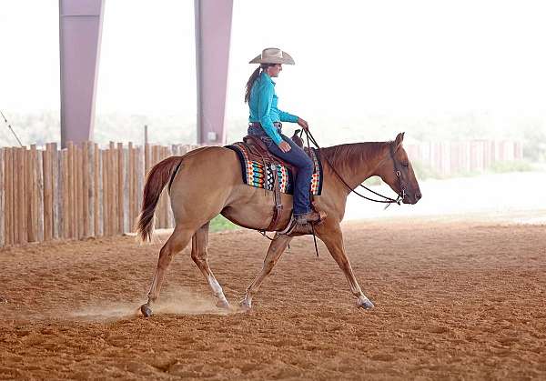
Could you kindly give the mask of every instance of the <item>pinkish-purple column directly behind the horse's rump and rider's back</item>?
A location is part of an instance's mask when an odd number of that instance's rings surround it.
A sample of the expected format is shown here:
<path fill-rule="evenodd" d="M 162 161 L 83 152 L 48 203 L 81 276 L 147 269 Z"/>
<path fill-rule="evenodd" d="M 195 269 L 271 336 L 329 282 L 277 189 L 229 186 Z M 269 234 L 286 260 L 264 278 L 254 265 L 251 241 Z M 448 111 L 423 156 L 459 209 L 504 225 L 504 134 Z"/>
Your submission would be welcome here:
<path fill-rule="evenodd" d="M 195 0 L 197 143 L 226 143 L 227 65 L 233 0 Z"/>

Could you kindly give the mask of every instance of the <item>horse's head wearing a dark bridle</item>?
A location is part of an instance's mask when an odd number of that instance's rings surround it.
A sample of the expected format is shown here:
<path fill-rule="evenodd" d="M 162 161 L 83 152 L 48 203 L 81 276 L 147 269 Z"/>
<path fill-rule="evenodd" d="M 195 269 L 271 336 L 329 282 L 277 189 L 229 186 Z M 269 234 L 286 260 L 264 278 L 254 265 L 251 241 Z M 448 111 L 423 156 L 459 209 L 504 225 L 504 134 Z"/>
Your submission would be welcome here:
<path fill-rule="evenodd" d="M 404 204 L 416 204 L 420 198 L 420 188 L 408 154 L 402 146 L 404 133 L 389 143 L 389 158 L 383 161 L 379 176 L 401 197 Z"/>

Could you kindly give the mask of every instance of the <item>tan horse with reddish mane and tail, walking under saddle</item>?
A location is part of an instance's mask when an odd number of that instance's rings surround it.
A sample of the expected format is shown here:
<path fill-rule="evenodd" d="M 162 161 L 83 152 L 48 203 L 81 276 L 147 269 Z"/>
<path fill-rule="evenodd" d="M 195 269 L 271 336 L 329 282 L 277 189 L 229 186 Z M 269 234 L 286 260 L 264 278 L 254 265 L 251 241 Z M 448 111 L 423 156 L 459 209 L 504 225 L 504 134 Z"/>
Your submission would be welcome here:
<path fill-rule="evenodd" d="M 379 175 L 402 197 L 404 204 L 415 204 L 419 201 L 419 184 L 402 147 L 403 138 L 404 135 L 399 134 L 391 142 L 335 145 L 319 150 L 324 182 L 322 195 L 315 196 L 314 205 L 318 210 L 326 212 L 327 217 L 315 226 L 315 233 L 326 244 L 330 255 L 347 276 L 350 291 L 357 297 L 357 306 L 365 309 L 373 307 L 373 304 L 362 293 L 353 274 L 343 247 L 339 223 L 345 213 L 349 186 L 354 189 L 372 175 Z M 207 146 L 183 156 L 169 157 L 155 165 L 147 176 L 142 212 L 137 223 L 138 235 L 143 241 L 151 238 L 154 211 L 167 183 L 176 226 L 159 252 L 156 273 L 147 294 L 147 303 L 141 306 L 141 312 L 144 316 L 151 315 L 151 306 L 159 295 L 167 266 L 190 240 L 191 258 L 217 297 L 217 306 L 229 307 L 222 287 L 208 267 L 208 223 L 213 217 L 222 214 L 239 226 L 265 229 L 273 215 L 272 197 L 265 197 L 263 189 L 243 183 L 238 156 L 230 149 Z M 286 226 L 290 220 L 292 196 L 283 194 L 282 203 L 284 208 L 280 225 Z M 275 235 L 261 272 L 247 288 L 247 295 L 241 302 L 242 307 L 251 307 L 252 297 L 292 238 L 293 236 Z"/>

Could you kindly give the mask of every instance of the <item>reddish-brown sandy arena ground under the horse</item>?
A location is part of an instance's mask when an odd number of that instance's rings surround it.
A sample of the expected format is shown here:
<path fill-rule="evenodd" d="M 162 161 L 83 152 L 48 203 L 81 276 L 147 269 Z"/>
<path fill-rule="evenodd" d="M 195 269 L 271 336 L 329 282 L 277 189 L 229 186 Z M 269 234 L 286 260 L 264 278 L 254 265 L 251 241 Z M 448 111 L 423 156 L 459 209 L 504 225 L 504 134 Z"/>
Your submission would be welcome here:
<path fill-rule="evenodd" d="M 148 319 L 136 309 L 159 244 L 7 248 L 0 378 L 546 379 L 546 226 L 512 223 L 522 217 L 346 223 L 371 311 L 356 308 L 308 237 L 293 241 L 248 313 L 218 310 L 185 250 Z M 210 266 L 233 304 L 267 246 L 247 230 L 211 235 Z"/>

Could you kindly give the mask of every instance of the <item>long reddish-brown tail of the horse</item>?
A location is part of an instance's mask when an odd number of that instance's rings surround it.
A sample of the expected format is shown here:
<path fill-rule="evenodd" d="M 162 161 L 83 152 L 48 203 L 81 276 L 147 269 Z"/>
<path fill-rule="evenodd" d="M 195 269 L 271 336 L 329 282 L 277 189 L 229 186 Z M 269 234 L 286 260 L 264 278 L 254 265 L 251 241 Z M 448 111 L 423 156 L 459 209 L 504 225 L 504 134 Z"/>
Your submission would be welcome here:
<path fill-rule="evenodd" d="M 142 242 L 150 241 L 154 232 L 154 213 L 161 191 L 167 185 L 170 178 L 175 175 L 180 156 L 167 157 L 150 170 L 147 175 L 144 193 L 142 195 L 142 209 L 136 222 L 136 233 Z"/>

